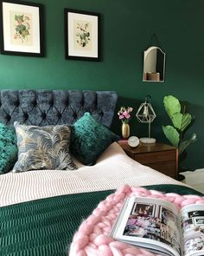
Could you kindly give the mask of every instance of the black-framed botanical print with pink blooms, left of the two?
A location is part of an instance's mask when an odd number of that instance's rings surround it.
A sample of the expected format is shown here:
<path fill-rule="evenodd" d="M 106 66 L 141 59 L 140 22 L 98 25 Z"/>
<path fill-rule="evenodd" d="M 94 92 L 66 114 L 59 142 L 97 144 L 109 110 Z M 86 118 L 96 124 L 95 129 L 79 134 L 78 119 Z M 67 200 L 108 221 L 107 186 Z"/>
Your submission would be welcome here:
<path fill-rule="evenodd" d="M 40 3 L 0 0 L 1 53 L 44 56 L 43 6 Z"/>

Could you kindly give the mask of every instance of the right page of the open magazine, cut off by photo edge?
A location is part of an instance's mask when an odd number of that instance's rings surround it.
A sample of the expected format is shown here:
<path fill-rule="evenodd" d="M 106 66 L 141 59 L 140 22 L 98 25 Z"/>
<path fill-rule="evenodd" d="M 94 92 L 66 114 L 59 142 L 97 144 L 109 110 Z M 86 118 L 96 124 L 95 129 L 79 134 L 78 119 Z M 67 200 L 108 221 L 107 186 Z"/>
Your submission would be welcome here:
<path fill-rule="evenodd" d="M 188 205 L 181 210 L 183 255 L 204 255 L 204 205 Z"/>

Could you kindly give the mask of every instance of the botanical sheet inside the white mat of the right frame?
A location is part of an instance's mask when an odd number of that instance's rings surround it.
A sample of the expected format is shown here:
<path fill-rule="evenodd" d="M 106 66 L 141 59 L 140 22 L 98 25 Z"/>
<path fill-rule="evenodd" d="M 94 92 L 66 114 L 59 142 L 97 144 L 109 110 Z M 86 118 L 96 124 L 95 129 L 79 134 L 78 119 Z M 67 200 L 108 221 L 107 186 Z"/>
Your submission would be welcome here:
<path fill-rule="evenodd" d="M 92 49 L 92 23 L 74 20 L 74 49 Z"/>

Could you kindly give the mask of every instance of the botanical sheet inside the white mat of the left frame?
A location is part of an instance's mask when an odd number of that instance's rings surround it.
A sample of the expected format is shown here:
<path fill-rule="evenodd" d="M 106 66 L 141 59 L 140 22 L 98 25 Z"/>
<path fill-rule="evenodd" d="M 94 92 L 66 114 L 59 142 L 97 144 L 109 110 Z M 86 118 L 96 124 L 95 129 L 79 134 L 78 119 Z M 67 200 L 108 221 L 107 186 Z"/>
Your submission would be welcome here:
<path fill-rule="evenodd" d="M 10 11 L 11 44 L 32 45 L 32 16 L 28 13 Z"/>

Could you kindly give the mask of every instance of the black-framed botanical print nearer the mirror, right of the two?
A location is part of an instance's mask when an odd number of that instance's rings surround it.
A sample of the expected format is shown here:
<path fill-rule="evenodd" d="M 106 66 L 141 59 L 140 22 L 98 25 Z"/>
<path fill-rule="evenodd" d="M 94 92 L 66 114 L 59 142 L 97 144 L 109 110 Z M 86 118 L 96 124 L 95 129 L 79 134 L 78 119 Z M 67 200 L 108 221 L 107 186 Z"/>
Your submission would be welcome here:
<path fill-rule="evenodd" d="M 67 59 L 100 60 L 99 13 L 65 9 L 65 50 Z"/>

